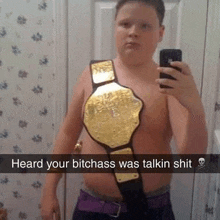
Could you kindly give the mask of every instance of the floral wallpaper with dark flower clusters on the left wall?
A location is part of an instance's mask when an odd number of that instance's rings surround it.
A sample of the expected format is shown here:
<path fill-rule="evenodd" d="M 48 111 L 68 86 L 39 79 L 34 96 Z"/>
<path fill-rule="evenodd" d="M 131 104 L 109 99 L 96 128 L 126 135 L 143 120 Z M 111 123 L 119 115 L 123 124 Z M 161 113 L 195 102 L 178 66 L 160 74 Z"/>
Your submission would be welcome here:
<path fill-rule="evenodd" d="M 0 1 L 0 154 L 46 154 L 54 139 L 53 1 Z M 41 219 L 44 174 L 0 174 L 8 219 Z"/>

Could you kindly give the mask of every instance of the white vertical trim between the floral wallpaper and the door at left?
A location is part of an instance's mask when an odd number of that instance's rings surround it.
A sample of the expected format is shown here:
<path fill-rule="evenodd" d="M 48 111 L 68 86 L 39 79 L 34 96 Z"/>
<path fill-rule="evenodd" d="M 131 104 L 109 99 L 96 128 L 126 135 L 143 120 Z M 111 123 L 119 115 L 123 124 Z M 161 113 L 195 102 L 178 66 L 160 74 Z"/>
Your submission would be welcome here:
<path fill-rule="evenodd" d="M 54 137 L 57 135 L 62 119 L 67 109 L 67 0 L 53 0 L 54 19 Z M 55 142 L 55 140 L 54 140 Z M 52 152 L 51 152 L 52 153 Z M 60 202 L 62 219 L 66 219 L 65 199 L 65 178 L 62 178 L 57 187 L 57 197 Z"/>

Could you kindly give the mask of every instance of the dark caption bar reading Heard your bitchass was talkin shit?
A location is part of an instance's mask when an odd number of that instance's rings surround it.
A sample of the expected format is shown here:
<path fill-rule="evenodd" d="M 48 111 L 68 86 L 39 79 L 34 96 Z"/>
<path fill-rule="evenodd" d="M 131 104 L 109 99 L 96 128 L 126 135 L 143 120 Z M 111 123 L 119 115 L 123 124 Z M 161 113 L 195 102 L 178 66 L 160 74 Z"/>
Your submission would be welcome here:
<path fill-rule="evenodd" d="M 2 154 L 0 173 L 220 173 L 219 154 Z"/>

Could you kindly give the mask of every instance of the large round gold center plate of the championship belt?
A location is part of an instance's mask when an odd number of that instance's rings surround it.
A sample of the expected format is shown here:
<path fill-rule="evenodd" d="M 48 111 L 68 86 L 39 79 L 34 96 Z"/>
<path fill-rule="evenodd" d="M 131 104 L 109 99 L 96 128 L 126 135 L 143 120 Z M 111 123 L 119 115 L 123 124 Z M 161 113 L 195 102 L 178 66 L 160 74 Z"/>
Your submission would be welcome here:
<path fill-rule="evenodd" d="M 84 124 L 95 140 L 117 148 L 129 143 L 142 105 L 131 89 L 111 82 L 99 86 L 87 100 Z"/>

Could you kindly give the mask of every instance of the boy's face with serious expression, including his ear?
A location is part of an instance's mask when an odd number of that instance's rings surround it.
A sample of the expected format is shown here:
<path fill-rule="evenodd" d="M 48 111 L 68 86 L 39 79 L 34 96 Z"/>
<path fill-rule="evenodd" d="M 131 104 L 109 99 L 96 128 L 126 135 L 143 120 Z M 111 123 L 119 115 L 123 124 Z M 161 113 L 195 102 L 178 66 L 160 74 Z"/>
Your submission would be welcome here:
<path fill-rule="evenodd" d="M 128 2 L 115 20 L 117 51 L 121 56 L 135 60 L 151 60 L 164 27 L 160 26 L 156 10 L 144 3 Z"/>

